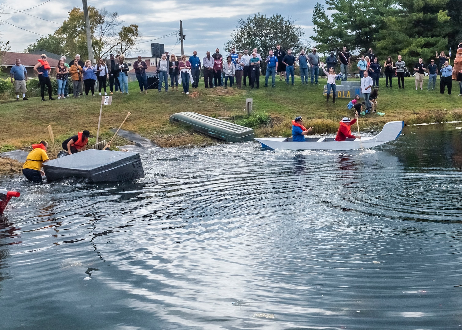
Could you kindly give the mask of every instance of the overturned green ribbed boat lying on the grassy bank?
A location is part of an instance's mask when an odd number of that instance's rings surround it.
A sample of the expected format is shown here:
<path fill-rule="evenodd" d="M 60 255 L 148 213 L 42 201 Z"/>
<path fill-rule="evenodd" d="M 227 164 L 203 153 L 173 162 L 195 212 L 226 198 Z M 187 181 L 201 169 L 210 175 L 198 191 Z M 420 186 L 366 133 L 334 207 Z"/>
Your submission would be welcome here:
<path fill-rule="evenodd" d="M 204 116 L 195 112 L 178 112 L 170 116 L 170 122 L 192 126 L 196 131 L 229 142 L 252 141 L 252 128 L 225 122 L 224 120 Z"/>

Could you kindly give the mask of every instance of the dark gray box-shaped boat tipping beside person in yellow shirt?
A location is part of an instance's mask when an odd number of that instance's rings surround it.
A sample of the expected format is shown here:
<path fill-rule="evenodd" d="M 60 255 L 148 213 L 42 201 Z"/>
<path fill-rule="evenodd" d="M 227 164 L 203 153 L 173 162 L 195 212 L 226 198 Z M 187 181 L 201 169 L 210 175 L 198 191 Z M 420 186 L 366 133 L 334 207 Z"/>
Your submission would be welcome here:
<path fill-rule="evenodd" d="M 68 177 L 89 182 L 130 181 L 144 177 L 139 153 L 90 149 L 43 163 L 47 181 Z"/>

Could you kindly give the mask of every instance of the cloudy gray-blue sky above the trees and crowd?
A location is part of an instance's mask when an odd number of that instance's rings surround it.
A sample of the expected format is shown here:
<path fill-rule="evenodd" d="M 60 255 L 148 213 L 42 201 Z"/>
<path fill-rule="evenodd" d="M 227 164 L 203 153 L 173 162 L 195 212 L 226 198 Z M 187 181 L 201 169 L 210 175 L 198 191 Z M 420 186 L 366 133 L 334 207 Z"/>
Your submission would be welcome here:
<path fill-rule="evenodd" d="M 41 6 L 37 6 L 42 4 Z M 322 0 L 320 0 L 323 3 Z M 313 34 L 311 16 L 316 0 L 228 0 L 228 1 L 152 1 L 152 0 L 88 0 L 88 5 L 118 12 L 125 24 L 139 24 L 143 37 L 137 47 L 141 55 L 150 55 L 151 43 L 164 43 L 165 50 L 179 54 L 175 32 L 179 21 L 183 22 L 184 51 L 204 56 L 207 50 L 223 49 L 239 18 L 246 18 L 256 12 L 271 16 L 275 13 L 291 18 L 301 25 L 305 39 L 309 42 Z M 30 10 L 31 7 L 34 7 Z M 41 35 L 53 33 L 67 18 L 73 7 L 82 7 L 81 1 L 71 0 L 0 0 L 4 14 L 0 19 L 9 24 L 0 25 L 1 40 L 10 41 L 12 51 L 22 52 Z M 20 12 L 18 12 L 20 11 Z M 36 17 L 33 17 L 33 16 Z M 3 23 L 0 21 L 0 23 Z M 12 24 L 12 25 L 10 25 Z M 16 25 L 13 26 L 13 25 Z M 20 28 L 28 31 L 21 30 Z M 173 33 L 170 37 L 160 36 Z M 175 45 L 176 44 L 176 45 Z M 223 52 L 221 52 L 223 54 Z"/>

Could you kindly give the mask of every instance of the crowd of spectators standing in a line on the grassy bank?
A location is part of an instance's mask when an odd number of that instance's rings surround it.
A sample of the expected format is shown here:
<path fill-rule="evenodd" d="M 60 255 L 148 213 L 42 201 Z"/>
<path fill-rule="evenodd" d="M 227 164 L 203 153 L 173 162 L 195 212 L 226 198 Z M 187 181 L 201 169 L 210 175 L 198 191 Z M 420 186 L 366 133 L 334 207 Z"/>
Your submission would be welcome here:
<path fill-rule="evenodd" d="M 430 64 L 426 65 L 422 58 L 414 64 L 413 73 L 415 77 L 415 89 L 423 90 L 424 78 L 428 75 L 427 90 L 434 90 L 437 81 L 437 75 L 440 75 L 440 93 L 444 93 L 447 88 L 448 94 L 451 94 L 452 89 L 452 66 L 449 65 L 449 58 L 446 57 L 444 51 L 438 52 L 435 59 L 430 60 Z M 286 85 L 295 85 L 295 67 L 299 67 L 301 84 L 308 85 L 309 78 L 311 84 L 319 84 L 320 67 L 321 73 L 324 72 L 328 78 L 328 96 L 330 91 L 334 91 L 335 95 L 335 80 L 341 79 L 346 81 L 348 71 L 352 67 L 353 57 L 343 47 L 342 51 L 334 55 L 334 51 L 326 57 L 323 63 L 317 54 L 317 49 L 312 48 L 310 54 L 305 54 L 302 49 L 300 54 L 294 55 L 292 49 L 284 51 L 278 44 L 276 48 L 271 49 L 263 59 L 258 53 L 258 49 L 254 48 L 251 52 L 244 49 L 243 52 L 236 52 L 235 48 L 225 57 L 220 54 L 220 50 L 215 49 L 215 53 L 211 55 L 207 51 L 205 57 L 197 56 L 194 51 L 192 56 L 187 59 L 186 55 L 177 58 L 174 54 L 163 54 L 157 63 L 156 73 L 158 79 L 158 91 L 161 92 L 164 88 L 165 92 L 169 91 L 168 77 L 170 76 L 171 90 L 178 92 L 178 84 L 182 85 L 183 93 L 189 94 L 189 85 L 192 88 L 199 86 L 200 74 L 203 72 L 205 88 L 213 88 L 223 86 L 224 88 L 233 87 L 245 88 L 249 86 L 251 89 L 260 88 L 260 73 L 263 63 L 266 66 L 265 87 L 269 87 L 269 78 L 271 77 L 271 87 L 275 87 L 276 75 L 279 73 L 280 80 L 285 79 Z M 438 64 L 435 64 L 438 62 Z M 335 68 L 340 64 L 340 73 L 335 73 Z M 407 65 L 402 61 L 401 55 L 397 56 L 397 61 L 394 61 L 391 56 L 387 56 L 383 62 L 383 66 L 374 54 L 371 48 L 365 55 L 361 55 L 356 63 L 358 68 L 359 78 L 361 79 L 361 92 L 365 98 L 366 112 L 371 109 L 369 94 L 371 90 L 379 87 L 379 79 L 382 74 L 385 76 L 385 86 L 393 87 L 393 78 L 398 80 L 398 88 L 404 89 L 404 76 L 407 73 Z M 136 79 L 140 86 L 140 93 L 147 93 L 147 74 L 146 62 L 141 56 L 138 56 L 138 61 L 133 65 Z M 47 56 L 41 55 L 41 59 L 34 67 L 39 83 L 42 100 L 45 101 L 45 88 L 48 89 L 49 99 L 52 97 L 52 88 L 50 81 L 51 68 L 47 62 Z M 75 55 L 74 59 L 66 63 L 66 57 L 62 56 L 58 65 L 55 67 L 57 80 L 58 99 L 68 97 L 68 78 L 73 83 L 73 97 L 78 98 L 82 95 L 87 96 L 90 92 L 95 96 L 95 83 L 97 83 L 99 95 L 107 95 L 106 85 L 109 85 L 109 93 L 119 92 L 128 94 L 128 71 L 129 67 L 125 62 L 124 55 L 110 54 L 109 59 L 98 59 L 95 66 L 90 60 L 85 62 L 80 60 L 80 55 Z M 19 92 L 23 93 L 25 98 L 25 81 L 27 80 L 27 72 L 24 66 L 20 64 L 20 59 L 17 59 L 16 65 L 11 69 L 11 81 L 16 92 L 16 99 L 19 99 Z M 460 78 L 460 79 L 459 79 Z M 107 83 L 109 81 L 109 84 Z M 462 72 L 458 74 L 457 81 L 461 86 L 462 94 Z M 229 85 L 228 85 L 229 84 Z M 84 94 L 85 93 L 85 94 Z M 335 102 L 335 96 L 333 98 Z"/>

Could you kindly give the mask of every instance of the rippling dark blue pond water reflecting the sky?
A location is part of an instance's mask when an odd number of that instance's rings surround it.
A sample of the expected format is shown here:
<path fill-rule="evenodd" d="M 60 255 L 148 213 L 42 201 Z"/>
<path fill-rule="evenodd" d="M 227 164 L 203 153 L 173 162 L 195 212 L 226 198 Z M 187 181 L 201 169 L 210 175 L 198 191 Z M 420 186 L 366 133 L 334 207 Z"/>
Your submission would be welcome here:
<path fill-rule="evenodd" d="M 1 329 L 460 329 L 462 123 L 375 150 L 158 148 L 132 183 L 19 190 Z"/>

